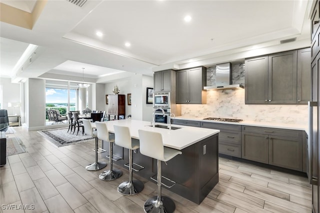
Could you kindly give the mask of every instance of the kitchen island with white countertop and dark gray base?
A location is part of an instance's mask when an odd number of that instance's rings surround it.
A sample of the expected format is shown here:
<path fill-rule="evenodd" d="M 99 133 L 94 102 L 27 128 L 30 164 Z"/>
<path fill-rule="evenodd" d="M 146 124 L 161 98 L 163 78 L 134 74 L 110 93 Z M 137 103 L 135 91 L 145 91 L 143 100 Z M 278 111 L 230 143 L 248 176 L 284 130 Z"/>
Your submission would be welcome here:
<path fill-rule="evenodd" d="M 176 182 L 173 187 L 167 188 L 169 191 L 200 204 L 218 183 L 219 130 L 177 125 L 172 125 L 177 129 L 169 130 L 159 127 L 153 128 L 150 122 L 131 119 L 107 121 L 105 123 L 109 133 L 114 133 L 113 125 L 127 126 L 130 129 L 132 140 L 139 140 L 139 129 L 158 132 L 162 135 L 164 146 L 182 152 L 181 155 L 170 161 L 162 162 L 162 176 Z M 94 126 L 95 124 L 92 123 L 92 127 Z M 106 157 L 106 153 L 108 153 L 107 142 L 103 142 L 103 149 L 107 152 L 102 153 L 102 157 Z M 114 164 L 126 168 L 124 164 L 128 162 L 128 150 L 113 144 L 113 155 L 120 157 Z M 155 159 L 141 155 L 137 149 L 133 152 L 133 163 L 144 167 L 144 169 L 134 172 L 134 177 L 138 175 L 153 181 L 150 179 L 153 176 L 156 179 L 157 166 Z M 139 167 L 133 168 L 139 169 Z M 165 182 L 165 179 L 162 180 Z M 164 184 L 170 185 L 170 183 Z"/>

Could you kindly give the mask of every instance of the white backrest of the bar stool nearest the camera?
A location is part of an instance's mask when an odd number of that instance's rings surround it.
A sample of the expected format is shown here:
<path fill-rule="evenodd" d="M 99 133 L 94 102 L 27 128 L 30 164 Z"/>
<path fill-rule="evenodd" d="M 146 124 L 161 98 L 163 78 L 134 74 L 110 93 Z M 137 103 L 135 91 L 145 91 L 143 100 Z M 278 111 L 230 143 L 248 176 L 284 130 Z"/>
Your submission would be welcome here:
<path fill-rule="evenodd" d="M 157 132 L 139 130 L 140 153 L 160 161 L 164 159 L 162 136 Z"/>

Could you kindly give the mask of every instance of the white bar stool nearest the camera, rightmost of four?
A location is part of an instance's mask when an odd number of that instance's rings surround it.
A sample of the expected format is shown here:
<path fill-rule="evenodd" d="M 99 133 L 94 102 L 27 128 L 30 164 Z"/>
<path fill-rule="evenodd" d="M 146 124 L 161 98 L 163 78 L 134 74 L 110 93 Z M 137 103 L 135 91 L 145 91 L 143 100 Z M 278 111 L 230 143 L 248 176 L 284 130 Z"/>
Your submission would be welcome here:
<path fill-rule="evenodd" d="M 140 153 L 150 158 L 157 159 L 157 196 L 149 198 L 144 203 L 145 213 L 173 213 L 174 202 L 168 197 L 161 197 L 161 161 L 169 161 L 182 154 L 180 151 L 163 146 L 162 136 L 157 132 L 139 130 Z M 174 184 L 173 184 L 174 185 Z M 172 186 L 173 186 L 172 185 Z M 172 187 L 170 186 L 170 187 Z"/>

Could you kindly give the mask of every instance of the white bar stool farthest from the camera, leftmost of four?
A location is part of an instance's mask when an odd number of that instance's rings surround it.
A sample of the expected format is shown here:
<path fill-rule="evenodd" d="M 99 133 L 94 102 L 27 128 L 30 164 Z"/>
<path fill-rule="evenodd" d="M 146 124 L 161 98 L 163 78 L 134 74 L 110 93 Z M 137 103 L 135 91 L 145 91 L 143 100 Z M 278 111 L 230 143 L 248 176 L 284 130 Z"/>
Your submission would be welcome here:
<path fill-rule="evenodd" d="M 97 171 L 97 170 L 103 169 L 104 167 L 106 167 L 106 163 L 98 162 L 98 138 L 96 137 L 97 132 L 92 131 L 90 120 L 83 119 L 83 128 L 84 128 L 84 133 L 86 135 L 90 135 L 94 137 L 94 140 L 95 140 L 95 148 L 94 148 L 95 162 L 93 164 L 86 166 L 85 169 L 88 171 Z"/>

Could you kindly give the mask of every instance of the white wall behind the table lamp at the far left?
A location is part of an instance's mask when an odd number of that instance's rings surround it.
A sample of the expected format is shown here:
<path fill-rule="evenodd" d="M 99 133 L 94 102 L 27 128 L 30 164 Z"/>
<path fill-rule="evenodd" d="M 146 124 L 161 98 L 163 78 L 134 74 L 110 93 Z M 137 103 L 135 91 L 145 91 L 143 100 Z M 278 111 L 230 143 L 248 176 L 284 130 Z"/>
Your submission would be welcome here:
<path fill-rule="evenodd" d="M 8 115 L 21 115 L 21 107 L 8 107 L 8 102 L 20 102 L 20 83 L 11 83 L 10 78 L 0 78 L 0 103 L 1 109 L 6 109 Z"/>

